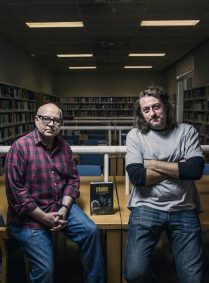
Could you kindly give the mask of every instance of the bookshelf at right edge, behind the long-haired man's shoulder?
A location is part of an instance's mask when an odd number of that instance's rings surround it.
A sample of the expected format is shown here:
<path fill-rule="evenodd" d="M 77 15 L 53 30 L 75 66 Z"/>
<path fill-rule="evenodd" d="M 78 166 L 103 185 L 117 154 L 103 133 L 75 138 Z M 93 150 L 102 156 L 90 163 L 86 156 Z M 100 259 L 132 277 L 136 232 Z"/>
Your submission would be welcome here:
<path fill-rule="evenodd" d="M 197 129 L 201 144 L 209 143 L 209 86 L 184 91 L 183 122 Z"/>

